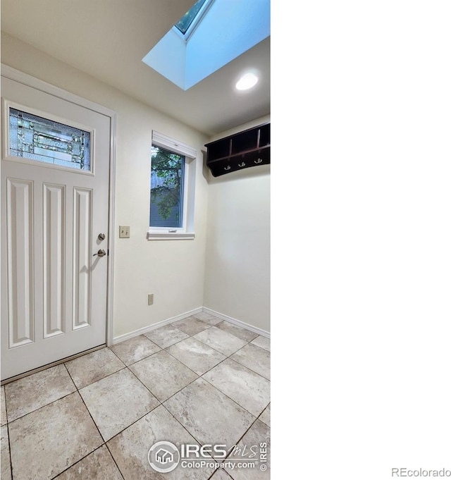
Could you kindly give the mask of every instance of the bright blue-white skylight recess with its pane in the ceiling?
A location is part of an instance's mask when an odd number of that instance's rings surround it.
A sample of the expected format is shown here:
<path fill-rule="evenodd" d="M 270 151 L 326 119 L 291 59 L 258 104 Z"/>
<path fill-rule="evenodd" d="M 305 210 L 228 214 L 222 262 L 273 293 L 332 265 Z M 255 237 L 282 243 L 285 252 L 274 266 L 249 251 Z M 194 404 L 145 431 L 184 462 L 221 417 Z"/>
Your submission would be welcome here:
<path fill-rule="evenodd" d="M 270 1 L 197 0 L 142 61 L 188 90 L 270 35 Z"/>

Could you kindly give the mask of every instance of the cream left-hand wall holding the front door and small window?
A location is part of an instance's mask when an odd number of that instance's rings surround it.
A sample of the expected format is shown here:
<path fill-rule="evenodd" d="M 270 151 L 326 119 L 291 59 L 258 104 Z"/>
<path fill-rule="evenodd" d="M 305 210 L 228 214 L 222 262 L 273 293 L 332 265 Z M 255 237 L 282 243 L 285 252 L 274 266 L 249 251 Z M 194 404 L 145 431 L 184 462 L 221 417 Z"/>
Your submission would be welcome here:
<path fill-rule="evenodd" d="M 113 336 L 202 307 L 208 184 L 204 135 L 30 45 L 1 34 L 1 62 L 117 113 Z M 148 241 L 152 130 L 198 149 L 195 240 Z M 118 226 L 130 226 L 130 239 Z M 154 293 L 154 305 L 147 294 Z"/>

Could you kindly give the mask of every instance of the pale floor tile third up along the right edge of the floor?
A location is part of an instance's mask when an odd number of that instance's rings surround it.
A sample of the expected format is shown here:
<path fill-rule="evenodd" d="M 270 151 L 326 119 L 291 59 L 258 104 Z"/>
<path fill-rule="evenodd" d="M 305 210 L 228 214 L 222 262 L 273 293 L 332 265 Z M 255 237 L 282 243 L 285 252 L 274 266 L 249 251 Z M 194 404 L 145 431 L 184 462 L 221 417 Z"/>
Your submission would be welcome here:
<path fill-rule="evenodd" d="M 258 417 L 271 400 L 271 383 L 231 359 L 226 359 L 207 371 L 202 378 L 254 417 Z"/>

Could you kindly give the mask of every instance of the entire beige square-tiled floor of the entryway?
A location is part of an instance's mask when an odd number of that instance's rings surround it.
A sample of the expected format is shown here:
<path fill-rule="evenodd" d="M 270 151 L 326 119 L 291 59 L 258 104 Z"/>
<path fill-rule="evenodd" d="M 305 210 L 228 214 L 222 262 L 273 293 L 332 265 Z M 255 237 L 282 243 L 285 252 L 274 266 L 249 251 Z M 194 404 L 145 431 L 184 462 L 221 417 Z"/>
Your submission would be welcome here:
<path fill-rule="evenodd" d="M 159 473 L 157 441 L 268 460 Z M 270 342 L 205 312 L 1 387 L 2 480 L 265 480 L 269 443 Z"/>

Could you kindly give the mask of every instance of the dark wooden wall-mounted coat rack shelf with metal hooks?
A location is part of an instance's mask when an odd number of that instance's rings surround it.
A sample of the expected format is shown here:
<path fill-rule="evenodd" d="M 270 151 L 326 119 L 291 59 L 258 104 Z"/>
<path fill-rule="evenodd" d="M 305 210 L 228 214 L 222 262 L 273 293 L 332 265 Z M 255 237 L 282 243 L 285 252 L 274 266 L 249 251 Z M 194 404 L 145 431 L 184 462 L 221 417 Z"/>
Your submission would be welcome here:
<path fill-rule="evenodd" d="M 205 144 L 206 166 L 218 177 L 251 166 L 270 163 L 270 123 Z"/>

